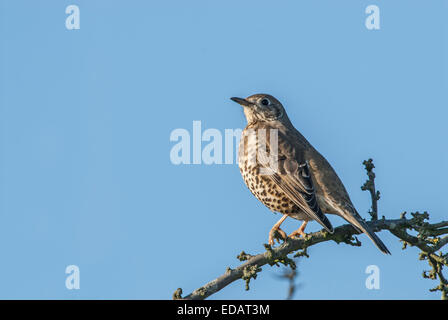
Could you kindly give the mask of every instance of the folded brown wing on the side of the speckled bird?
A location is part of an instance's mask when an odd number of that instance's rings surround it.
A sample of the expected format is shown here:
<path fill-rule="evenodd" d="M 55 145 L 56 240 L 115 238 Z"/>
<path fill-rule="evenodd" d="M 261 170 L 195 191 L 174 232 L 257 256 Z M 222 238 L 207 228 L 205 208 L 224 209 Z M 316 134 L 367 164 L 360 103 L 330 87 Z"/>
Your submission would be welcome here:
<path fill-rule="evenodd" d="M 268 141 L 266 144 L 269 144 Z M 266 176 L 279 186 L 306 215 L 319 222 L 328 232 L 333 232 L 333 226 L 317 203 L 308 163 L 296 159 L 291 152 L 288 152 L 290 148 L 278 149 L 277 159 L 274 156 L 274 160 L 270 159 L 265 152 L 257 153 Z"/>

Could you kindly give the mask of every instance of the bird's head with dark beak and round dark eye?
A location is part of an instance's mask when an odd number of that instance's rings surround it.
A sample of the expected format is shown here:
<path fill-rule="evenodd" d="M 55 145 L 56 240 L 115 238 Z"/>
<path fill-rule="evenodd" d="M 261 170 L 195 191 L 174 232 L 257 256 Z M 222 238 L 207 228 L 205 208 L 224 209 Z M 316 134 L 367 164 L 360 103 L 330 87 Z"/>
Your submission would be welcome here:
<path fill-rule="evenodd" d="M 246 99 L 230 98 L 244 108 L 244 115 L 248 123 L 255 121 L 282 121 L 287 118 L 285 109 L 280 101 L 269 94 L 254 94 Z"/>

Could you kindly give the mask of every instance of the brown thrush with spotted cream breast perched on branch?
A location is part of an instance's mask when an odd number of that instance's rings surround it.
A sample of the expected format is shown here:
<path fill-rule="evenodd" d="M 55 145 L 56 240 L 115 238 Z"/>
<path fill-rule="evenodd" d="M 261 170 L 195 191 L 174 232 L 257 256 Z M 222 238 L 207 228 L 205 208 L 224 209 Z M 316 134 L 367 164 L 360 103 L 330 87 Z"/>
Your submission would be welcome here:
<path fill-rule="evenodd" d="M 247 120 L 238 147 L 243 180 L 259 201 L 282 214 L 269 232 L 270 245 L 275 244 L 277 235 L 284 240 L 305 237 L 307 223 L 313 220 L 333 233 L 326 214 L 334 214 L 390 254 L 356 211 L 336 171 L 293 126 L 279 100 L 269 94 L 230 99 L 243 107 Z M 289 236 L 280 228 L 288 217 L 303 221 Z"/>

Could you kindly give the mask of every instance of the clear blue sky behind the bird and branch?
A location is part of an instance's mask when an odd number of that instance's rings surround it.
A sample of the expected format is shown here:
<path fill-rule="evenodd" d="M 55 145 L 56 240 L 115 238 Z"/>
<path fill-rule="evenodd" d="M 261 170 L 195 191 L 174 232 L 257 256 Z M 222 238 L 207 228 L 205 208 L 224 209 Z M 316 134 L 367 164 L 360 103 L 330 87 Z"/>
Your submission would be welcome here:
<path fill-rule="evenodd" d="M 70 4 L 80 30 L 65 28 Z M 369 4 L 380 30 L 364 25 Z M 243 128 L 231 96 L 279 98 L 364 216 L 373 157 L 380 214 L 446 218 L 447 13 L 441 0 L 2 0 L 0 298 L 169 299 L 261 252 L 279 216 L 237 165 L 169 157 L 171 131 L 194 120 Z M 380 237 L 392 256 L 364 235 L 310 248 L 295 298 L 439 299 L 418 250 Z M 65 287 L 72 264 L 80 290 Z M 365 287 L 372 264 L 380 290 Z M 280 272 L 213 297 L 283 299 Z"/>

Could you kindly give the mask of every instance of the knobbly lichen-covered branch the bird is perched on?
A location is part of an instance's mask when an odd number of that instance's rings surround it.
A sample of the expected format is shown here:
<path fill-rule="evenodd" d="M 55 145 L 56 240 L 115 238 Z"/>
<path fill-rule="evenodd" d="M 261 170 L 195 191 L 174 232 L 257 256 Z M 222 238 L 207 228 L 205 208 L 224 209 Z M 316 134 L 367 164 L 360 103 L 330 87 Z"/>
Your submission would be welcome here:
<path fill-rule="evenodd" d="M 422 251 L 420 253 L 420 260 L 428 260 L 429 265 L 432 267 L 429 274 L 424 272 L 423 276 L 430 279 L 439 278 L 440 280 L 440 284 L 430 291 L 441 291 L 442 299 L 446 299 L 448 296 L 448 283 L 442 274 L 442 268 L 443 266 L 448 266 L 448 255 L 443 255 L 442 252 L 436 254 L 436 251 L 440 250 L 448 243 L 448 236 L 446 235 L 448 234 L 448 221 L 430 224 L 426 222 L 426 220 L 429 219 L 429 214 L 427 212 L 411 213 L 411 219 L 407 219 L 406 213 L 404 212 L 401 214 L 400 219 L 386 220 L 383 217 L 383 219 L 378 220 L 377 201 L 380 197 L 379 191 L 375 190 L 375 173 L 372 171 L 375 166 L 373 165 L 372 159 L 364 161 L 363 164 L 369 179 L 361 188 L 362 190 L 368 190 L 372 199 L 372 210 L 370 211 L 372 220 L 367 221 L 366 223 L 375 232 L 389 230 L 403 243 L 403 249 L 406 249 L 408 246 L 418 247 Z M 408 230 L 416 231 L 417 236 L 409 234 Z M 345 224 L 335 228 L 333 234 L 321 230 L 310 233 L 305 238 L 287 238 L 276 248 L 272 248 L 270 245 L 265 244 L 266 251 L 257 255 L 250 255 L 243 251 L 237 256 L 240 261 L 244 261 L 240 266 L 235 269 L 227 268 L 224 274 L 194 290 L 185 297 L 182 297 L 182 289 L 179 288 L 174 293 L 173 299 L 206 299 L 239 279 L 246 282 L 246 290 L 249 290 L 250 280 L 256 279 L 258 272 L 262 271 L 262 266 L 267 264 L 270 266 L 279 266 L 280 264 L 283 264 L 289 266 L 294 271 L 296 269 L 296 264 L 293 259 L 288 257 L 289 254 L 295 253 L 294 258 L 308 256 L 308 247 L 327 241 L 335 241 L 338 244 L 342 242 L 359 247 L 361 246 L 361 243 L 355 236 L 357 234 L 359 234 L 359 232 L 350 224 Z M 440 236 L 442 235 L 445 236 L 441 238 Z"/>

